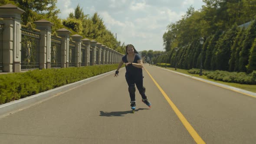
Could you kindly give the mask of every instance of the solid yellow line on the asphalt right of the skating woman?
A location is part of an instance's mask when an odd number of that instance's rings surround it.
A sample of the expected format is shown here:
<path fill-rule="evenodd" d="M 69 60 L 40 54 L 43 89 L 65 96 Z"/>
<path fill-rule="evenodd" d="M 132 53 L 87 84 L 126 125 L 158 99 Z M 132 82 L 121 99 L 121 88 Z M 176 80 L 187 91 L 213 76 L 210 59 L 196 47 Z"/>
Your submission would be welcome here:
<path fill-rule="evenodd" d="M 154 80 L 154 78 L 150 75 L 148 70 L 144 67 L 150 78 L 153 80 L 155 85 L 158 87 L 160 92 L 164 95 L 164 98 L 168 101 L 169 105 L 171 105 L 171 108 L 174 110 L 178 118 L 180 118 L 182 124 L 187 129 L 187 131 L 190 133 L 190 135 L 194 138 L 194 140 L 197 142 L 197 144 L 205 144 L 203 139 L 197 134 L 197 131 L 190 125 L 190 123 L 187 121 L 187 119 L 182 115 L 181 111 L 174 105 L 174 103 L 171 101 L 171 99 L 166 95 L 164 90 L 158 85 L 158 83 Z"/>

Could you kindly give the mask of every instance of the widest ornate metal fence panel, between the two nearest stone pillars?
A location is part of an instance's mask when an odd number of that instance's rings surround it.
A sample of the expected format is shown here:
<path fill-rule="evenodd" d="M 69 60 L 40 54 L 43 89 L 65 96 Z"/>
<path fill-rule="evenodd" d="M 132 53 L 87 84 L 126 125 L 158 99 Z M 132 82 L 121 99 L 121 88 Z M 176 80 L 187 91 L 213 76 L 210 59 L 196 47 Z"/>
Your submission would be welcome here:
<path fill-rule="evenodd" d="M 30 23 L 21 27 L 21 69 L 39 69 L 40 30 Z"/>

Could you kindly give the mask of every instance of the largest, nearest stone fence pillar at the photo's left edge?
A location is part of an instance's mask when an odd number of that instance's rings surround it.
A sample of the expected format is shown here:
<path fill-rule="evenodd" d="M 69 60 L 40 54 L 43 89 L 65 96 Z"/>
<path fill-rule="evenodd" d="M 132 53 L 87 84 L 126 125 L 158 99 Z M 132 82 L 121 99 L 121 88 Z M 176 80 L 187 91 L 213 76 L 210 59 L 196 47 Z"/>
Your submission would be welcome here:
<path fill-rule="evenodd" d="M 0 6 L 3 18 L 3 72 L 21 71 L 21 14 L 25 11 L 13 4 Z"/>

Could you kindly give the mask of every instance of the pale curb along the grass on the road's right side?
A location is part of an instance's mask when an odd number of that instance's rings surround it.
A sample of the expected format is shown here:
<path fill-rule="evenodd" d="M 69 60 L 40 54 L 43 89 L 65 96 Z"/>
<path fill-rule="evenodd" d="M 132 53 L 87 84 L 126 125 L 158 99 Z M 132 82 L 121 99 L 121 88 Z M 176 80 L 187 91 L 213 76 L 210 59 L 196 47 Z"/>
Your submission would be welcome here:
<path fill-rule="evenodd" d="M 158 66 L 154 66 L 158 69 L 164 69 L 164 68 L 160 68 Z M 187 74 L 184 74 L 184 73 L 180 73 L 180 72 L 175 72 L 175 71 L 172 71 L 170 69 L 164 69 L 164 70 L 167 70 L 169 72 L 174 72 L 174 73 L 177 73 L 179 75 L 184 75 L 184 76 L 187 76 L 187 77 L 190 77 L 192 79 L 196 79 L 196 80 L 199 80 L 201 82 L 206 82 L 206 83 L 209 83 L 209 84 L 212 84 L 212 85 L 217 85 L 219 87 L 222 87 L 222 88 L 226 88 L 226 89 L 229 89 L 229 90 L 232 90 L 232 91 L 235 91 L 235 92 L 239 92 L 239 93 L 242 93 L 244 95 L 248 95 L 248 96 L 251 96 L 251 97 L 254 97 L 256 98 L 256 93 L 255 92 L 249 92 L 249 91 L 246 91 L 246 90 L 243 90 L 243 89 L 240 89 L 240 88 L 236 88 L 236 87 L 233 87 L 233 86 L 229 86 L 229 85 L 224 85 L 224 84 L 220 84 L 218 82 L 212 82 L 212 81 L 209 81 L 209 80 L 206 80 L 206 79 L 201 79 L 201 78 L 198 78 L 198 77 L 194 77 L 194 76 L 191 76 L 191 75 L 187 75 Z"/>

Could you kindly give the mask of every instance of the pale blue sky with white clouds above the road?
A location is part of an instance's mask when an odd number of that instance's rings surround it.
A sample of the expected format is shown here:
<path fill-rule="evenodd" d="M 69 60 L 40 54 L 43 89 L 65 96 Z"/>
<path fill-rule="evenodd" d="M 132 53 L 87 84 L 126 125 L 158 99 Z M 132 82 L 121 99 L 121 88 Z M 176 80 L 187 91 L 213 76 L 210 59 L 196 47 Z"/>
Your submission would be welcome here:
<path fill-rule="evenodd" d="M 167 26 L 181 20 L 190 6 L 200 10 L 205 3 L 202 0 L 58 0 L 59 17 L 66 19 L 78 4 L 90 17 L 97 12 L 121 44 L 132 44 L 137 51 L 164 51 Z"/>

